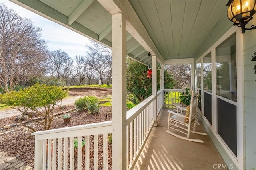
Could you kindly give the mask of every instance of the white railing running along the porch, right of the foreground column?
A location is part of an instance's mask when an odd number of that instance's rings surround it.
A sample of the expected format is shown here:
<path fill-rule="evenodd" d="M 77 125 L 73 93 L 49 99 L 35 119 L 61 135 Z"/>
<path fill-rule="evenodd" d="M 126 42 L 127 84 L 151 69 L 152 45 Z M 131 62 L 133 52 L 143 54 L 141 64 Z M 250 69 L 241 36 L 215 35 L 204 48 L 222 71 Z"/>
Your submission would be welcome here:
<path fill-rule="evenodd" d="M 154 109 L 154 100 L 157 108 Z M 127 112 L 127 168 L 133 169 L 155 123 L 154 114 L 160 111 L 164 102 L 164 90 L 150 96 Z"/>

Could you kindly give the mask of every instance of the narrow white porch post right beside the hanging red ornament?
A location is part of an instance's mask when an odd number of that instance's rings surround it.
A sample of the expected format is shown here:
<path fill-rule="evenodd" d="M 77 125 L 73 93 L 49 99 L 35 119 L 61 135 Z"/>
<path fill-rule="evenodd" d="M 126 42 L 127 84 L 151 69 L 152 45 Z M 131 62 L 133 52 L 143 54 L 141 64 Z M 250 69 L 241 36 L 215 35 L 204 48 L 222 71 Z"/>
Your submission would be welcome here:
<path fill-rule="evenodd" d="M 157 80 L 156 80 L 156 76 L 157 76 L 157 70 L 156 70 L 156 56 L 152 55 L 152 95 L 156 96 L 157 93 Z M 155 126 L 157 126 L 157 98 L 155 98 L 154 102 L 153 102 L 153 117 L 154 117 L 154 121 L 155 121 Z"/>

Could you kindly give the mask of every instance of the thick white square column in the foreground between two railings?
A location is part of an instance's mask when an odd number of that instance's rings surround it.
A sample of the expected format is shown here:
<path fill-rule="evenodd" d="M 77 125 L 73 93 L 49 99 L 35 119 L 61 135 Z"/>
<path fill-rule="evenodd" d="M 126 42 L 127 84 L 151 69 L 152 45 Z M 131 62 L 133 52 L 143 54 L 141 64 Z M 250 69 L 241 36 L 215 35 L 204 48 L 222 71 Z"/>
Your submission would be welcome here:
<path fill-rule="evenodd" d="M 126 169 L 126 18 L 112 15 L 112 169 Z"/>

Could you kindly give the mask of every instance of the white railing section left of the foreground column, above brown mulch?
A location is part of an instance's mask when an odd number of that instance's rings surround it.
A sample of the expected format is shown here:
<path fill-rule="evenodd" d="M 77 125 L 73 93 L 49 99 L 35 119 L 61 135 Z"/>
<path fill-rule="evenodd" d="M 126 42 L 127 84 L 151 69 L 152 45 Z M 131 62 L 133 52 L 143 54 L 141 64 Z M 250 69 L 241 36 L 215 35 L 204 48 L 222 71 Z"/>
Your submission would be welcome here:
<path fill-rule="evenodd" d="M 35 135 L 35 169 L 108 169 L 110 133 L 112 121 L 32 133 Z M 74 149 L 76 138 L 77 150 Z M 82 147 L 82 140 L 85 141 L 85 147 Z M 98 155 L 100 149 L 103 155 Z"/>

